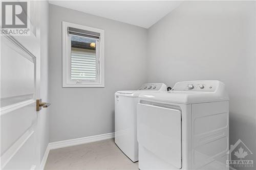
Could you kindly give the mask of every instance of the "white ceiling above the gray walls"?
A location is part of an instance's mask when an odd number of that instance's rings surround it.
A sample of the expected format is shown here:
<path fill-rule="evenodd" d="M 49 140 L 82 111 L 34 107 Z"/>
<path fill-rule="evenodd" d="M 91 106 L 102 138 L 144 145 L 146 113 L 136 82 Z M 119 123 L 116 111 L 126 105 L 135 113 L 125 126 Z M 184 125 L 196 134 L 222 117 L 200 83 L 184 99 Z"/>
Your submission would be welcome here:
<path fill-rule="evenodd" d="M 150 28 L 181 1 L 49 1 L 73 10 Z"/>

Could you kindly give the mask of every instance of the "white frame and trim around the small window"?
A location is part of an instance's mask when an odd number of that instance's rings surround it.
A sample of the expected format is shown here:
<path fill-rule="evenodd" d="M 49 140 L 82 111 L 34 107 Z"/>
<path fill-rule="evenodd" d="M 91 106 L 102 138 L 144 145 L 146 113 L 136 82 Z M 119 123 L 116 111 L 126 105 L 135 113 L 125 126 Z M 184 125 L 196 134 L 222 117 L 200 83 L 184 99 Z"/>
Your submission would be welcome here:
<path fill-rule="evenodd" d="M 96 45 L 96 81 L 71 80 L 71 44 L 68 27 L 100 33 Z M 62 87 L 104 87 L 104 30 L 62 21 Z"/>

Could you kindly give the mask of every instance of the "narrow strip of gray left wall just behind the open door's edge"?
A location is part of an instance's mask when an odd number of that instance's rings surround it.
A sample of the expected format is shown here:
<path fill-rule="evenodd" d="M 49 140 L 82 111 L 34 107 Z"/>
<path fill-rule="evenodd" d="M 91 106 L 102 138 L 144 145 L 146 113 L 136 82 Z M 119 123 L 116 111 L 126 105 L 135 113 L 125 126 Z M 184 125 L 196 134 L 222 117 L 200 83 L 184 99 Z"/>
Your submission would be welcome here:
<path fill-rule="evenodd" d="M 49 101 L 49 83 L 48 83 L 48 61 L 49 61 L 49 4 L 48 1 L 40 1 L 40 97 L 43 102 Z M 49 143 L 49 109 L 40 110 L 40 160 L 45 155 Z"/>

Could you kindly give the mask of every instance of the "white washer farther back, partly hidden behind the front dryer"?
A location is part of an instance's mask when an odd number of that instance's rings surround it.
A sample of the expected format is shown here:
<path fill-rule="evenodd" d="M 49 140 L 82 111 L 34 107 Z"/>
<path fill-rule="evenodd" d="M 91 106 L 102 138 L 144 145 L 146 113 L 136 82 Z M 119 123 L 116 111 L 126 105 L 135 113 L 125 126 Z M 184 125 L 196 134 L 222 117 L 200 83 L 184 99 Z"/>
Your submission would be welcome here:
<path fill-rule="evenodd" d="M 133 162 L 138 161 L 137 114 L 138 96 L 141 92 L 166 91 L 163 83 L 143 84 L 139 90 L 115 93 L 115 143 Z"/>

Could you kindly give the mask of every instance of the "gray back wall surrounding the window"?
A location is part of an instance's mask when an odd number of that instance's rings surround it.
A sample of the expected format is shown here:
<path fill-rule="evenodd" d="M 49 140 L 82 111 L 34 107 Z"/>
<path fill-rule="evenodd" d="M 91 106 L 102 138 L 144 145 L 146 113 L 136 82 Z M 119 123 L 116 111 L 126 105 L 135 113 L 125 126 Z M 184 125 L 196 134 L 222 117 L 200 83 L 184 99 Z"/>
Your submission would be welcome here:
<path fill-rule="evenodd" d="M 114 93 L 146 82 L 146 29 L 50 5 L 50 142 L 114 132 Z M 105 88 L 62 88 L 61 21 L 105 30 Z"/>

